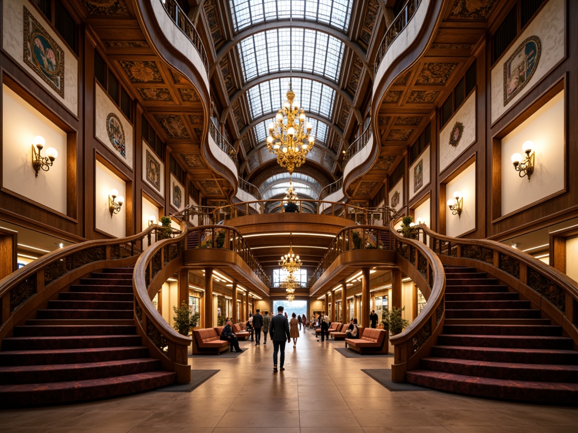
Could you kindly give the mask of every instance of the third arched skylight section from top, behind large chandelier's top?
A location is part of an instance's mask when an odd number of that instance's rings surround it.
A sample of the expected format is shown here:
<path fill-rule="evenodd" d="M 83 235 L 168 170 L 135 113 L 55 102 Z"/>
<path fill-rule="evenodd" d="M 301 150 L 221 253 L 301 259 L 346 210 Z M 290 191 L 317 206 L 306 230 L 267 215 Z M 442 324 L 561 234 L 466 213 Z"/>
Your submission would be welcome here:
<path fill-rule="evenodd" d="M 331 119 L 331 111 L 335 101 L 335 90 L 318 81 L 294 78 L 292 88 L 295 100 L 305 109 L 305 114 L 315 113 Z M 289 78 L 265 81 L 251 87 L 248 91 L 247 102 L 251 110 L 251 120 L 264 114 L 275 114 L 281 104 L 287 100 Z"/>

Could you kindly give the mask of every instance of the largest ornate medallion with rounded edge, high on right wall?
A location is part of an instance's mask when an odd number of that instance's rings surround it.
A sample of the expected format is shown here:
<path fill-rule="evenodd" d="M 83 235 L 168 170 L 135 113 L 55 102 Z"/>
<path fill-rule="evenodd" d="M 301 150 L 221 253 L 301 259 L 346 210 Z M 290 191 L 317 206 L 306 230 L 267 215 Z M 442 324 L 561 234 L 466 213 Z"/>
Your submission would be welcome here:
<path fill-rule="evenodd" d="M 532 79 L 538 68 L 542 44 L 538 36 L 530 36 L 504 63 L 504 106 Z"/>

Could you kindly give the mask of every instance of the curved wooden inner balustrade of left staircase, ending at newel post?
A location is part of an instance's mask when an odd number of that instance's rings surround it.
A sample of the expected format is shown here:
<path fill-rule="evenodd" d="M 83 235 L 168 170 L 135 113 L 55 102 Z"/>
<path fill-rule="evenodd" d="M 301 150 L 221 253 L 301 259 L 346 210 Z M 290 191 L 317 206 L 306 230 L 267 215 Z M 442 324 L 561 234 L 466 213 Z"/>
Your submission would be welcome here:
<path fill-rule="evenodd" d="M 191 339 L 177 333 L 152 303 L 154 294 L 166 278 L 182 267 L 187 222 L 181 221 L 180 226 L 181 232 L 177 236 L 158 241 L 140 255 L 135 264 L 132 286 L 135 293 L 135 323 L 139 334 L 149 338 L 149 348 L 156 349 L 155 354 L 161 364 L 175 371 L 177 382 L 183 383 L 191 380 L 187 359 L 187 347 Z"/>

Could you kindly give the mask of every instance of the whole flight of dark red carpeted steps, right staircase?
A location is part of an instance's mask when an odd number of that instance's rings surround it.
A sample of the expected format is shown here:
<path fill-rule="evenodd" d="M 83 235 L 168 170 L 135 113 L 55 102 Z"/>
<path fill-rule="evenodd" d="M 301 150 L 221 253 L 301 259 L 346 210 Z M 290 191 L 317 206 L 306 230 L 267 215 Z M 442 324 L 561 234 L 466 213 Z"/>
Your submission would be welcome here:
<path fill-rule="evenodd" d="M 482 397 L 578 403 L 578 352 L 562 328 L 486 273 L 445 270 L 443 334 L 407 381 Z"/>

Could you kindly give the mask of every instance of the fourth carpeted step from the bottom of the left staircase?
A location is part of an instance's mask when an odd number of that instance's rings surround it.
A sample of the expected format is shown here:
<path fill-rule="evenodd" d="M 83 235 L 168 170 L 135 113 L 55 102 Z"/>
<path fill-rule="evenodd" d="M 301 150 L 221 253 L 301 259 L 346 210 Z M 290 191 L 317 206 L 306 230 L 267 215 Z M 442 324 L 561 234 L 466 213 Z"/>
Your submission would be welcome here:
<path fill-rule="evenodd" d="M 138 346 L 139 335 L 61 335 L 50 337 L 9 337 L 2 350 L 88 349 Z"/>

